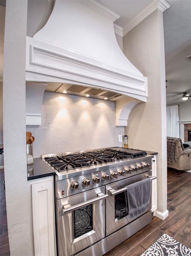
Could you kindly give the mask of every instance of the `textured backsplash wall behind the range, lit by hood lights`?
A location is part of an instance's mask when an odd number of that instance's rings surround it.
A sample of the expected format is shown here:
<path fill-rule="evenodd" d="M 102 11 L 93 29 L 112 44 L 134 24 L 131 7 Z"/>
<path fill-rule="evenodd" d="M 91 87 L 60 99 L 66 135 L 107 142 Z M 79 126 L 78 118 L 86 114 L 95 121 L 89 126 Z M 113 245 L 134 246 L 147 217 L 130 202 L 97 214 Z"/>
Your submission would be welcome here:
<path fill-rule="evenodd" d="M 35 137 L 34 157 L 42 154 L 121 146 L 115 102 L 46 91 L 42 125 L 27 126 Z"/>

